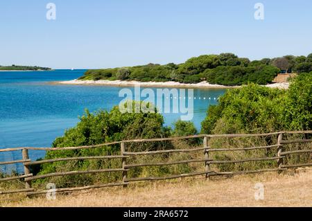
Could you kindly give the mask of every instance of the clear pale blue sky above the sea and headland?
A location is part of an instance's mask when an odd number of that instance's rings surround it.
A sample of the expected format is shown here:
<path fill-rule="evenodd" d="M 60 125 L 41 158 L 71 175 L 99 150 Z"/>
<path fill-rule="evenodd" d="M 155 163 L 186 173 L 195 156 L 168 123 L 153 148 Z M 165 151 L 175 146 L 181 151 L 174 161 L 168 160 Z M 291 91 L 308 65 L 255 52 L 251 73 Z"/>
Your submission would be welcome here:
<path fill-rule="evenodd" d="M 49 2 L 56 20 L 46 19 Z M 254 19 L 258 2 L 264 20 Z M 0 2 L 0 65 L 92 69 L 223 52 L 250 60 L 312 53 L 312 1 Z"/>

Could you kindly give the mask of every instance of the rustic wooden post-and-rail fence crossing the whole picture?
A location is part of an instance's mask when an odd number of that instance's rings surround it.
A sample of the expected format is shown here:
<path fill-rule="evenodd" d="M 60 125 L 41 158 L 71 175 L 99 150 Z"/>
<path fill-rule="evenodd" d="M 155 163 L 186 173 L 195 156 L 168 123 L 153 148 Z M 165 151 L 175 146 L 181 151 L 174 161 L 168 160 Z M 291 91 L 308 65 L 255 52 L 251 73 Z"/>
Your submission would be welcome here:
<path fill-rule="evenodd" d="M 295 164 L 295 165 L 287 165 L 284 164 L 283 159 L 286 156 L 292 154 L 306 154 L 312 153 L 312 148 L 309 150 L 293 150 L 284 152 L 283 145 L 293 144 L 293 143 L 310 143 L 312 139 L 295 139 L 295 140 L 284 140 L 285 134 L 312 134 L 312 131 L 297 131 L 297 132 L 274 132 L 268 134 L 220 134 L 220 135 L 211 135 L 211 134 L 200 134 L 195 136 L 181 136 L 174 138 L 165 138 L 165 139 L 137 139 L 130 141 L 118 141 L 112 143 L 103 143 L 99 145 L 89 145 L 89 146 L 80 146 L 80 147 L 71 147 L 71 148 L 8 148 L 1 149 L 1 152 L 16 152 L 21 151 L 22 159 L 15 161 L 4 161 L 0 162 L 0 165 L 12 164 L 12 163 L 23 163 L 24 165 L 24 175 L 17 175 L 16 177 L 5 177 L 0 178 L 0 182 L 8 182 L 12 180 L 24 180 L 25 188 L 16 189 L 10 191 L 0 191 L 0 194 L 11 194 L 11 193 L 27 193 L 27 195 L 38 195 L 48 193 L 49 190 L 35 190 L 32 188 L 32 181 L 35 179 L 43 179 L 46 177 L 58 177 L 58 176 L 68 176 L 68 175 L 82 175 L 82 174 L 95 174 L 95 173 L 122 173 L 122 179 L 120 182 L 114 182 L 109 184 L 96 184 L 92 186 L 82 186 L 82 187 L 72 187 L 72 188 L 57 188 L 56 192 L 70 192 L 70 191 L 81 191 L 92 188 L 103 188 L 108 186 L 123 186 L 126 187 L 130 182 L 141 182 L 141 181 L 153 181 L 153 180 L 164 180 L 164 179 L 176 179 L 180 177 L 191 177 L 198 175 L 205 175 L 208 179 L 211 176 L 220 176 L 220 175 L 240 175 L 240 174 L 249 174 L 249 173 L 263 173 L 263 172 L 272 172 L 277 171 L 281 172 L 283 170 L 287 170 L 288 168 L 300 168 L 312 166 L 311 160 L 308 163 Z M 250 147 L 250 148 L 211 148 L 209 147 L 208 141 L 209 139 L 214 138 L 236 138 L 236 137 L 265 137 L 265 136 L 277 136 L 277 142 L 274 145 L 266 145 L 266 146 L 258 146 L 258 147 Z M 157 151 L 145 151 L 145 152 L 130 152 L 127 151 L 127 143 L 144 143 L 144 142 L 157 142 L 157 141 L 174 141 L 174 140 L 182 140 L 182 139 L 203 139 L 202 147 L 191 148 L 191 149 L 174 149 L 174 150 L 157 150 Z M 120 155 L 113 156 L 92 156 L 92 157 L 69 157 L 69 158 L 58 158 L 58 159 L 45 159 L 40 161 L 31 161 L 28 157 L 28 150 L 45 150 L 45 151 L 60 151 L 60 150 L 81 150 L 81 149 L 89 149 L 89 148 L 101 148 L 107 145 L 120 145 Z M 216 161 L 209 158 L 209 154 L 212 152 L 235 152 L 241 150 L 261 150 L 266 149 L 270 150 L 272 148 L 276 148 L 275 157 L 263 157 L 263 158 L 254 158 L 254 159 L 239 159 L 239 160 L 231 160 L 231 161 Z M 159 163 L 137 163 L 137 164 L 128 164 L 127 159 L 134 156 L 139 155 L 153 155 L 153 154 L 168 154 L 168 153 L 187 153 L 187 152 L 198 152 L 203 151 L 202 159 L 188 159 L 183 161 L 171 161 L 171 162 L 159 162 Z M 76 161 L 76 160 L 92 160 L 92 159 L 121 159 L 120 168 L 111 168 L 111 169 L 101 169 L 101 170 L 83 170 L 83 171 L 68 171 L 63 173 L 50 173 L 45 175 L 33 175 L 30 170 L 31 165 L 38 165 L 42 163 L 53 163 L 58 161 Z M 216 172 L 211 170 L 211 165 L 213 164 L 225 164 L 225 163 L 244 163 L 251 161 L 277 161 L 277 168 L 266 168 L 261 170 L 243 170 L 243 171 L 229 171 L 229 172 Z M 202 162 L 202 171 L 195 173 L 187 173 L 180 175 L 171 175 L 166 177 L 128 177 L 128 171 L 130 168 L 139 168 L 144 166 L 169 166 L 169 165 L 177 165 L 184 163 L 198 163 Z"/>

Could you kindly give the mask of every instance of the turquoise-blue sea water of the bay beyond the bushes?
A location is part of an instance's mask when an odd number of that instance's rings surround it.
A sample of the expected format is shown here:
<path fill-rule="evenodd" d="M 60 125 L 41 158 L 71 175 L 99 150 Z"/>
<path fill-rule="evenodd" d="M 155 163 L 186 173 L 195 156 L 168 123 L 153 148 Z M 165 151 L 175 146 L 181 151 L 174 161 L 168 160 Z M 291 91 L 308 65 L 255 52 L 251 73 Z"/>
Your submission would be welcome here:
<path fill-rule="evenodd" d="M 84 109 L 111 109 L 118 105 L 121 87 L 51 85 L 48 82 L 72 80 L 85 70 L 0 72 L 0 148 L 21 146 L 50 147 L 57 136 L 78 122 Z M 129 89 L 133 88 L 129 87 Z M 143 89 L 143 88 L 142 88 Z M 153 89 L 156 90 L 156 89 Z M 194 89 L 194 117 L 198 130 L 207 107 L 216 104 L 224 89 Z M 203 98 L 207 98 L 204 100 Z M 211 100 L 208 98 L 211 97 Z M 198 98 L 201 98 L 200 100 Z M 180 114 L 164 114 L 172 126 Z M 31 159 L 45 152 L 30 152 Z M 21 152 L 1 152 L 0 161 L 17 160 Z M 20 170 L 21 165 L 2 166 L 2 170 Z"/>

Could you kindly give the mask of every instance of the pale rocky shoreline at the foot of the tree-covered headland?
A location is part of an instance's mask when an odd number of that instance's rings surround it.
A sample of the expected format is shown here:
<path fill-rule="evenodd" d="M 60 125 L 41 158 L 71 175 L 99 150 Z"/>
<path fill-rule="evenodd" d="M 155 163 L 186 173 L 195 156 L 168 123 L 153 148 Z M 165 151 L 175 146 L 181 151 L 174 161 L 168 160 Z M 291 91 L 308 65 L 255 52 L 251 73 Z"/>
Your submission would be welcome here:
<path fill-rule="evenodd" d="M 196 84 L 185 84 L 180 82 L 139 82 L 139 81 L 125 81 L 125 80 L 66 80 L 58 82 L 49 82 L 51 85 L 87 85 L 87 86 L 114 86 L 114 87 L 177 87 L 177 88 L 201 88 L 201 89 L 231 89 L 239 88 L 241 86 L 225 86 L 213 85 L 209 82 L 203 81 Z M 263 85 L 270 88 L 288 89 L 289 83 L 272 83 L 270 85 Z"/>

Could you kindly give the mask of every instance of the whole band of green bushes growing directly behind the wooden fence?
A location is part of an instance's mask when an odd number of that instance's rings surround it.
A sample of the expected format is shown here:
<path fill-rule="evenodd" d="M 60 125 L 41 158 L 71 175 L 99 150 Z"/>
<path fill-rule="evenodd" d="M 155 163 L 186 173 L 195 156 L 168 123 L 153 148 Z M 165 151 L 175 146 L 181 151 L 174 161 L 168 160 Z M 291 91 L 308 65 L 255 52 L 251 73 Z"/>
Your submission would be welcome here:
<path fill-rule="evenodd" d="M 239 89 L 229 89 L 220 97 L 218 105 L 210 106 L 207 118 L 202 122 L 202 134 L 245 134 L 266 133 L 283 130 L 311 130 L 312 129 L 312 72 L 301 73 L 294 78 L 288 90 L 270 89 L 254 83 Z M 135 103 L 135 101 L 134 101 Z M 125 105 L 127 105 L 125 103 Z M 149 105 L 149 104 L 146 104 Z M 135 106 L 135 105 L 132 105 Z M 177 121 L 174 128 L 164 126 L 164 118 L 157 113 L 121 113 L 119 107 L 110 112 L 100 110 L 94 114 L 85 112 L 80 122 L 53 142 L 53 148 L 69 146 L 95 145 L 112 141 L 129 139 L 166 138 L 169 136 L 187 136 L 197 134 L 198 131 L 191 122 Z M 288 139 L 311 139 L 309 135 L 296 135 Z M 301 137 L 302 136 L 302 137 Z M 308 137 L 309 136 L 309 137 Z M 287 139 L 287 138 L 285 138 Z M 211 148 L 248 148 L 250 146 L 275 145 L 277 136 L 263 138 L 237 139 L 209 139 Z M 132 152 L 168 149 L 186 149 L 202 146 L 201 139 L 186 141 L 159 141 L 148 143 L 127 143 L 126 148 Z M 287 150 L 311 149 L 309 144 L 284 145 Z M 82 150 L 62 150 L 47 152 L 45 159 L 59 157 L 85 157 L 98 155 L 118 155 L 120 145 L 109 145 L 100 148 Z M 211 159 L 230 161 L 237 159 L 254 159 L 259 157 L 275 157 L 275 150 L 241 150 L 236 152 L 212 153 Z M 159 156 L 145 156 L 131 159 L 128 163 L 144 163 L 157 161 L 183 161 L 200 157 L 193 153 L 187 154 L 159 154 Z M 291 163 L 309 161 L 309 154 L 301 157 L 288 157 Z M 105 160 L 92 161 L 61 161 L 46 163 L 40 168 L 32 168 L 33 174 L 55 173 L 68 170 L 107 169 L 118 168 L 120 159 L 109 162 Z M 245 162 L 234 164 L 217 164 L 218 171 L 258 170 L 276 168 L 276 161 Z M 196 172 L 202 164 L 180 164 L 174 166 L 148 166 L 132 168 L 130 177 L 174 175 Z M 46 178 L 47 179 L 47 178 Z M 115 182 L 121 179 L 121 174 L 107 173 L 105 175 L 73 175 L 67 177 L 49 178 L 49 182 L 59 187 L 95 184 L 98 182 Z M 45 182 L 37 181 L 37 185 Z"/>

